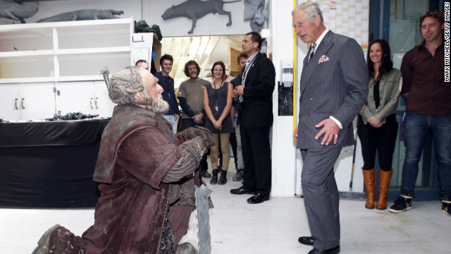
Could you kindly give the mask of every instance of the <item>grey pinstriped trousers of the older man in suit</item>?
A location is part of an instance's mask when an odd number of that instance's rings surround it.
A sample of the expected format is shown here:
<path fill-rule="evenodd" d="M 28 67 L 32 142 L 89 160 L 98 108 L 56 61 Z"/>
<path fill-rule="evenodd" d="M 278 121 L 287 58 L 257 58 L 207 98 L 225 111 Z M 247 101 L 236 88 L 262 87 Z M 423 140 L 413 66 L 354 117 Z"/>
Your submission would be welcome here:
<path fill-rule="evenodd" d="M 339 195 L 333 166 L 341 148 L 301 150 L 301 183 L 314 247 L 320 250 L 340 245 Z"/>

